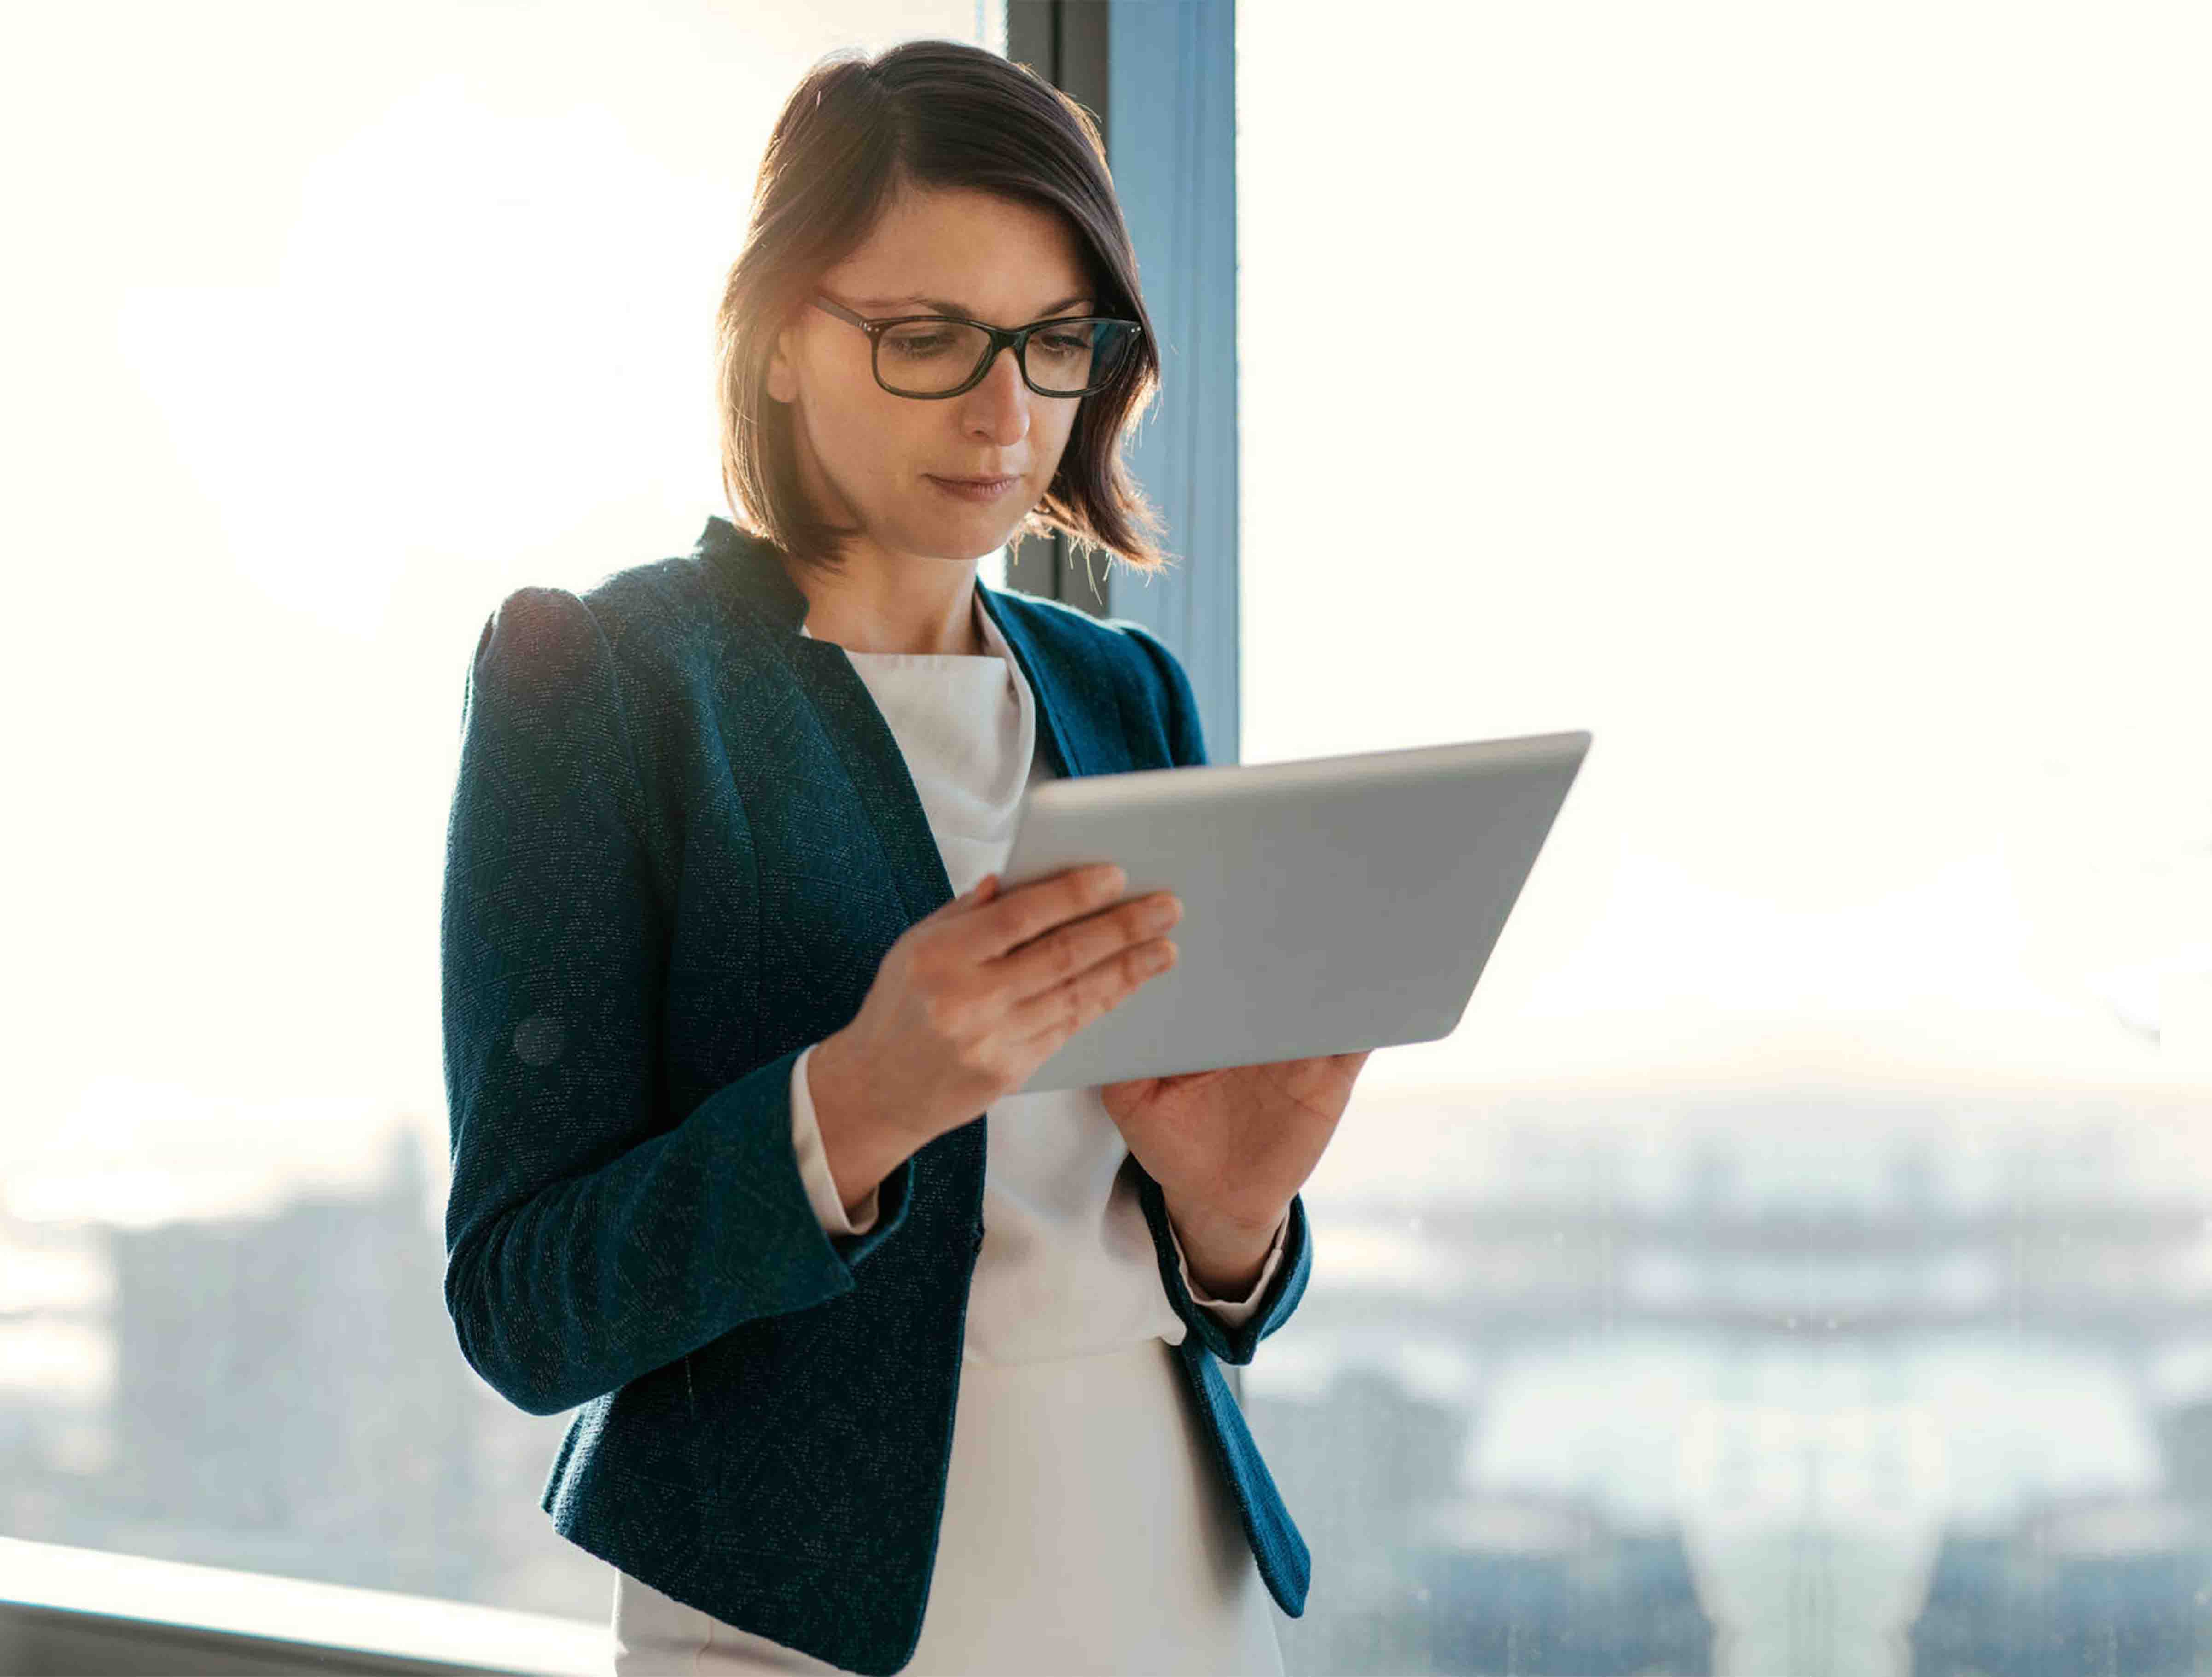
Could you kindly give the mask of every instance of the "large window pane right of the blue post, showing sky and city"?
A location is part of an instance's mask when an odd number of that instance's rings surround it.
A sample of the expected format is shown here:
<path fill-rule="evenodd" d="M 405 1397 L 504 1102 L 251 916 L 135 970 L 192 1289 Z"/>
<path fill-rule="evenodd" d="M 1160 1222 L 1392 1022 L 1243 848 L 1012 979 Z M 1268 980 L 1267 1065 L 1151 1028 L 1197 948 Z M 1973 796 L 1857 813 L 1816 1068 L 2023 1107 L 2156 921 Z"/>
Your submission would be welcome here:
<path fill-rule="evenodd" d="M 1245 1374 L 1290 1668 L 2203 1670 L 2212 20 L 1237 24 L 1243 761 L 1595 735 Z"/>

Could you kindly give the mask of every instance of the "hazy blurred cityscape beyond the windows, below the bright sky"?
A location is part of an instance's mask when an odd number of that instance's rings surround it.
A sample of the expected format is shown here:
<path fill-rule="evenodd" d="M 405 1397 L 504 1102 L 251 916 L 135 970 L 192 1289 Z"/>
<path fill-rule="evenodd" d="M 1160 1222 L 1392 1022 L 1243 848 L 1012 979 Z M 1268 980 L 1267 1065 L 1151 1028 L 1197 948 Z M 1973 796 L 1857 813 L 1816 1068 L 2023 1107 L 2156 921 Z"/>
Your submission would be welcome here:
<path fill-rule="evenodd" d="M 1290 1670 L 2212 1666 L 2212 1111 L 2101 1091 L 1360 1100 L 1245 1409 Z M 0 1212 L 0 1533 L 606 1622 L 445 1314 L 442 1162 Z M 0 1199 L 0 1204 L 7 1204 Z"/>

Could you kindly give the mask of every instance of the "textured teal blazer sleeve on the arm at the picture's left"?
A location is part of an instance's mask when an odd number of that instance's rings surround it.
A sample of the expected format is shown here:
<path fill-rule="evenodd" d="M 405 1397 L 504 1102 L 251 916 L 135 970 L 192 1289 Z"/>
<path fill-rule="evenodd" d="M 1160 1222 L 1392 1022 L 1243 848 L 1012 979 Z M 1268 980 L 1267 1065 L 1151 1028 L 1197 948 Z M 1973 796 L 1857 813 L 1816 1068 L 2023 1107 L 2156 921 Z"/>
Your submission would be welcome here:
<path fill-rule="evenodd" d="M 668 1111 L 670 909 L 615 657 L 566 588 L 484 622 L 447 821 L 440 1009 L 453 1181 L 445 1303 L 509 1403 L 555 1414 L 739 1323 L 854 1290 L 905 1221 L 823 1230 L 792 1142 L 799 1049 Z"/>

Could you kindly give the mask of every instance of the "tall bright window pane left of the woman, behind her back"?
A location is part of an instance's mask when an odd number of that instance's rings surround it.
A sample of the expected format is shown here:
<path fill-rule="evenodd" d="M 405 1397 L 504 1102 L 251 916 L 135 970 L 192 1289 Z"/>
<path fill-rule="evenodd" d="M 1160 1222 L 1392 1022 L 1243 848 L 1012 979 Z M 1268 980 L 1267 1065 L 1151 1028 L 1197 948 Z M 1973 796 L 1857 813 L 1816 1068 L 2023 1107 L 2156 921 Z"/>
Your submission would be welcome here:
<path fill-rule="evenodd" d="M 7 33 L 0 1535 L 604 1626 L 538 1507 L 568 1416 L 440 1303 L 467 650 L 726 511 L 781 100 L 834 46 L 1004 51 L 1002 0 Z"/>

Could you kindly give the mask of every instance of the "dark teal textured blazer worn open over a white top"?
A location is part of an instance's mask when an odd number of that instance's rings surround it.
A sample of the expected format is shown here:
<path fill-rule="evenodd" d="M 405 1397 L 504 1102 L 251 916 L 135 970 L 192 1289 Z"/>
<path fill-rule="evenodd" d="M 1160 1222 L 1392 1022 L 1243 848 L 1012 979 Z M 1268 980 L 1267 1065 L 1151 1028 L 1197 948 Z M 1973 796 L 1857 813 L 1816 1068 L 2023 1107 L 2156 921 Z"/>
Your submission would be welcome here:
<path fill-rule="evenodd" d="M 1206 761 L 1141 624 L 989 588 L 1064 777 Z M 799 1053 L 951 900 L 905 757 L 774 551 L 710 518 L 586 593 L 515 588 L 462 690 L 440 920 L 462 1356 L 575 1409 L 542 1507 L 679 1602 L 858 1673 L 914 1657 L 936 1564 L 984 1115 L 832 1237 L 792 1150 Z M 1303 1538 L 1219 1363 L 1305 1292 L 1305 1206 L 1237 1330 L 1192 1303 L 1139 1170 L 1212 1458 L 1276 1604 Z M 958 1564 L 958 1558 L 953 1560 Z"/>

